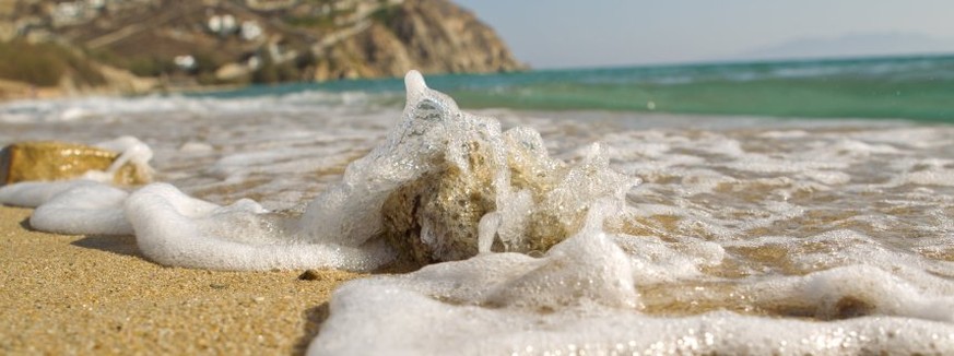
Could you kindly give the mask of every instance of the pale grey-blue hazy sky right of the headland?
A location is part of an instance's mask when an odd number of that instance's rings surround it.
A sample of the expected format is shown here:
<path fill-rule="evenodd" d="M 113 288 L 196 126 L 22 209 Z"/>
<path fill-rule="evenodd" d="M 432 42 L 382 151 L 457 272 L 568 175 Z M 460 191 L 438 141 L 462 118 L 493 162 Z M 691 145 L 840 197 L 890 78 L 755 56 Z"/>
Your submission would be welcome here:
<path fill-rule="evenodd" d="M 534 68 L 954 52 L 954 0 L 456 0 Z"/>

